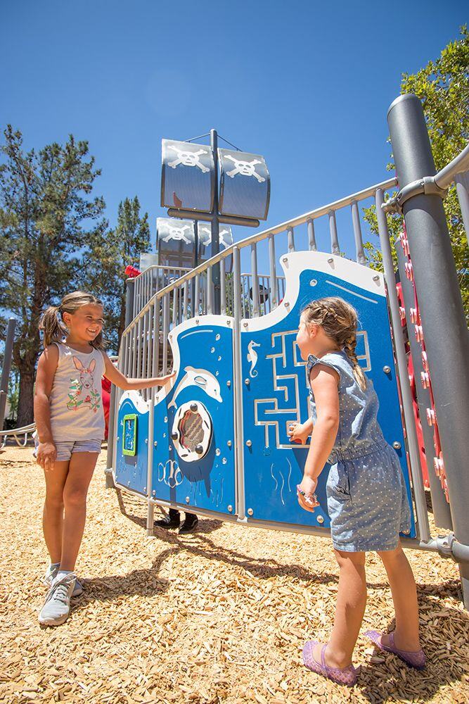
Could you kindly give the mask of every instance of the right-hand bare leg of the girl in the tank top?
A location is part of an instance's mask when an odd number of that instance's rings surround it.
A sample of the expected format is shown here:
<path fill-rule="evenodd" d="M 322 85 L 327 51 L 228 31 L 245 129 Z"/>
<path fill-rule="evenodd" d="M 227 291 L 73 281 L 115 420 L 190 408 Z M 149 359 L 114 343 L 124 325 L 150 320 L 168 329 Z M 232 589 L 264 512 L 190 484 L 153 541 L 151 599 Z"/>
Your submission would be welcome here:
<path fill-rule="evenodd" d="M 63 489 L 63 520 L 60 570 L 75 570 L 86 520 L 86 495 L 93 476 L 97 452 L 74 452 Z"/>

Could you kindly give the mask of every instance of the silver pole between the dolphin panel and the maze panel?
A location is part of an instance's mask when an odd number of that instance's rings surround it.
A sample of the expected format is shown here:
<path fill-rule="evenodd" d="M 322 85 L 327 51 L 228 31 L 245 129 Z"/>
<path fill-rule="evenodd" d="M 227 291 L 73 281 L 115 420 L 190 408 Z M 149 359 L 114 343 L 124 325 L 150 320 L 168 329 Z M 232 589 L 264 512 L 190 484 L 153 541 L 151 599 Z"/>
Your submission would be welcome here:
<path fill-rule="evenodd" d="M 238 517 L 245 518 L 244 488 L 244 432 L 243 432 L 243 367 L 241 364 L 241 260 L 238 247 L 233 249 L 233 391 L 235 394 L 235 451 L 236 451 L 236 511 Z M 275 279 L 274 279 L 275 280 Z"/>

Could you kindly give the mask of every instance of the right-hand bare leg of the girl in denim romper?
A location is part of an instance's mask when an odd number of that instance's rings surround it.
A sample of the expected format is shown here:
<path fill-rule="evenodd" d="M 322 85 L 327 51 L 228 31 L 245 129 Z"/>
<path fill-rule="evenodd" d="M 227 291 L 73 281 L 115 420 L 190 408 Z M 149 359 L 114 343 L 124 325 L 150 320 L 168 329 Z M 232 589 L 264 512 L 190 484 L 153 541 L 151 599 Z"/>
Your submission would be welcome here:
<path fill-rule="evenodd" d="M 378 555 L 387 572 L 396 612 L 394 643 L 399 650 L 420 650 L 417 588 L 409 561 L 400 544 L 395 550 L 383 551 Z M 383 635 L 382 642 L 389 645 L 388 634 Z"/>

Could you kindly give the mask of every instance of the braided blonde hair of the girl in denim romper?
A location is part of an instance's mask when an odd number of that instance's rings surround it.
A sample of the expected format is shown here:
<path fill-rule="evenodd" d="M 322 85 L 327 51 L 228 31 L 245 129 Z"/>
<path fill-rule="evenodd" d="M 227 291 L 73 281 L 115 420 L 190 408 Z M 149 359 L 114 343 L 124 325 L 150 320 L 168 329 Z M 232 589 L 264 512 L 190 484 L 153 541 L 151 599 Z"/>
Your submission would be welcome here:
<path fill-rule="evenodd" d="M 307 325 L 321 325 L 323 331 L 340 350 L 343 349 L 354 368 L 354 377 L 361 389 L 366 389 L 366 376 L 356 357 L 356 325 L 358 315 L 353 306 L 338 296 L 319 298 L 302 311 Z"/>

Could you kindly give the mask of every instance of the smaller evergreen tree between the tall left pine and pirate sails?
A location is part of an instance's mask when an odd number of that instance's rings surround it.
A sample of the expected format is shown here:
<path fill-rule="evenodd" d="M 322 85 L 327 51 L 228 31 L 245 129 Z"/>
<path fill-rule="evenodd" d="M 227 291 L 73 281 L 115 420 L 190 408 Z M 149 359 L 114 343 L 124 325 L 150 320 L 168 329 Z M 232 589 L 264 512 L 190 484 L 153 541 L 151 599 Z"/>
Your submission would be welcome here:
<path fill-rule="evenodd" d="M 97 232 L 86 254 L 84 268 L 88 288 L 105 306 L 105 337 L 118 351 L 125 322 L 125 268 L 139 265 L 141 252 L 150 247 L 148 213 L 140 215 L 137 196 L 119 204 L 117 227 Z"/>

